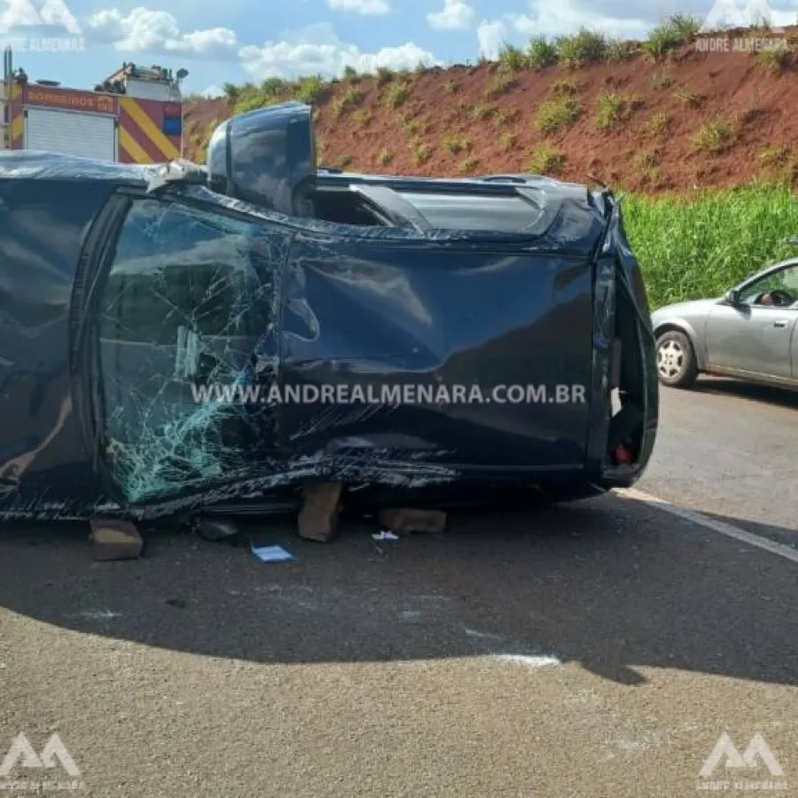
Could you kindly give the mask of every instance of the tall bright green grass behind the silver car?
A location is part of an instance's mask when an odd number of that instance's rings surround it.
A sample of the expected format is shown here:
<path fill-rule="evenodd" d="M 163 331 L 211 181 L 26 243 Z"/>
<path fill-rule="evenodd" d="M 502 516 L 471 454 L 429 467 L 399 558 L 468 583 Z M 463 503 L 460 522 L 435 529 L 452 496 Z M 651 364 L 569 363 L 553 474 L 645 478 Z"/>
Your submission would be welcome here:
<path fill-rule="evenodd" d="M 767 263 L 798 255 L 798 197 L 755 186 L 695 198 L 629 197 L 627 233 L 652 309 L 720 296 Z"/>

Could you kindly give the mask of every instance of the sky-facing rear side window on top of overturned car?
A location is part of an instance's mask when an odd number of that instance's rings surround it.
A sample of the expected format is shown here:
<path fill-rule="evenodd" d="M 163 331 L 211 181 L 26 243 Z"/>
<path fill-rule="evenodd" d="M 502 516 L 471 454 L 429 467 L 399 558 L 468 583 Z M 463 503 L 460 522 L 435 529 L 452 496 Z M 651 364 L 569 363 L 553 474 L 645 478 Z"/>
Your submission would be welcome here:
<path fill-rule="evenodd" d="M 515 194 L 507 197 L 480 194 L 398 192 L 417 207 L 433 227 L 443 230 L 520 232 L 534 227 L 540 207 Z"/>

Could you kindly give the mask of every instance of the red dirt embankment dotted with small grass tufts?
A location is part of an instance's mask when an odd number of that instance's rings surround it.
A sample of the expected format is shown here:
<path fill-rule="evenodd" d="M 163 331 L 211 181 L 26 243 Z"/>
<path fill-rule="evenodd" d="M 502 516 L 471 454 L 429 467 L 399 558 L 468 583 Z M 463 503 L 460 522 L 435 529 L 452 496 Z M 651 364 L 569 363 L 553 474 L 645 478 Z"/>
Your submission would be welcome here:
<path fill-rule="evenodd" d="M 319 160 L 420 176 L 542 172 L 584 182 L 591 174 L 645 192 L 794 180 L 796 60 L 779 72 L 755 53 L 690 45 L 661 62 L 638 54 L 575 69 L 508 74 L 492 63 L 335 81 L 317 105 Z M 407 97 L 391 107 L 401 94 L 391 87 L 401 82 Z M 544 132 L 541 108 L 551 100 L 573 116 Z M 226 100 L 188 107 L 195 150 L 232 107 Z M 196 154 L 189 145 L 189 157 Z"/>

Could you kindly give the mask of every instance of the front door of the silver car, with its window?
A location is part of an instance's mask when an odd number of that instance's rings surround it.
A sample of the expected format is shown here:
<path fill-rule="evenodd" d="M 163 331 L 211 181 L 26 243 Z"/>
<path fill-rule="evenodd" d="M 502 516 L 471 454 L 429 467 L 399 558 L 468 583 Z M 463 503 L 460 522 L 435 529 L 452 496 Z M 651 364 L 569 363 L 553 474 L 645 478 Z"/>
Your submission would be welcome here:
<path fill-rule="evenodd" d="M 741 286 L 738 301 L 718 303 L 707 322 L 709 370 L 791 379 L 798 323 L 798 264 Z"/>

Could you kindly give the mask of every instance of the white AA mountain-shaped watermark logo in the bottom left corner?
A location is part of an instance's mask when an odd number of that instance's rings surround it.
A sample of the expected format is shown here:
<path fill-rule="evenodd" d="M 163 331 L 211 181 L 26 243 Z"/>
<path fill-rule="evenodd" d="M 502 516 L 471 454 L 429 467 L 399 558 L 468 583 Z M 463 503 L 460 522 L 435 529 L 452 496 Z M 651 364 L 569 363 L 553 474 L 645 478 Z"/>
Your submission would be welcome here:
<path fill-rule="evenodd" d="M 58 734 L 51 735 L 37 754 L 27 735 L 20 732 L 0 763 L 0 793 L 85 788 L 80 768 Z"/>

